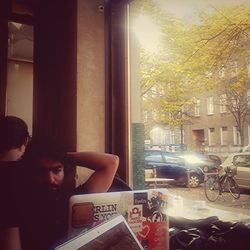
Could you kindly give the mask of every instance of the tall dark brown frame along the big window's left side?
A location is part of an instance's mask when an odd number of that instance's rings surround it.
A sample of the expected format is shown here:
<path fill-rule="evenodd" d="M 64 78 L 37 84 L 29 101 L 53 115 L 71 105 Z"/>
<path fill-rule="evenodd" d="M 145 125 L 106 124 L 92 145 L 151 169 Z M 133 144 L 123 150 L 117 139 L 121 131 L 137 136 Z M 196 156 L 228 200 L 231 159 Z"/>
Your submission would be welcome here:
<path fill-rule="evenodd" d="M 106 150 L 119 155 L 118 174 L 129 183 L 128 3 L 112 0 L 105 5 Z"/>

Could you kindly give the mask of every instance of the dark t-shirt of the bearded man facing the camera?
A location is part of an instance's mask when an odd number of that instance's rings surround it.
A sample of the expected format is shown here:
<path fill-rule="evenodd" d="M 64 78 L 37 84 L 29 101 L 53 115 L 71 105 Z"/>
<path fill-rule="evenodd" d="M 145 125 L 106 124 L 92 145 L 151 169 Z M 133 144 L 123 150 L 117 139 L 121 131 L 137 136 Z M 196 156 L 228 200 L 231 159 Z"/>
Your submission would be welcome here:
<path fill-rule="evenodd" d="M 69 198 L 76 193 L 86 193 L 85 186 L 63 187 L 51 195 L 29 187 L 20 226 L 22 249 L 54 249 L 67 240 Z"/>

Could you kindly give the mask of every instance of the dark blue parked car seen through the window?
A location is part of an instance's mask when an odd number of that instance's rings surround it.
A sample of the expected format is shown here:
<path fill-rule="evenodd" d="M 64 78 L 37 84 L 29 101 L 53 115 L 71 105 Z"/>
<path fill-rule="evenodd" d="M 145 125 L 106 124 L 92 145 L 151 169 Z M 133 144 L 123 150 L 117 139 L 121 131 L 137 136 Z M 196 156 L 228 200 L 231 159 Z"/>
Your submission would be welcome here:
<path fill-rule="evenodd" d="M 204 181 L 201 168 L 188 166 L 185 160 L 175 153 L 145 150 L 145 168 L 155 169 L 155 177 L 173 179 L 177 185 L 197 187 Z"/>

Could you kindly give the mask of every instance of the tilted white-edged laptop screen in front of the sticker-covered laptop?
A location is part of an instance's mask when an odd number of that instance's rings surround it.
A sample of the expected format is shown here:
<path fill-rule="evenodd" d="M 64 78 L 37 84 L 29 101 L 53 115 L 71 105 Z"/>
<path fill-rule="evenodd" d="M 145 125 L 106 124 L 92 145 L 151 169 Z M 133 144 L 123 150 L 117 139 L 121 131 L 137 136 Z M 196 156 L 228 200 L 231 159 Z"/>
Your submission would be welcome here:
<path fill-rule="evenodd" d="M 56 247 L 55 250 L 143 250 L 122 215 L 112 217 L 92 229 Z"/>

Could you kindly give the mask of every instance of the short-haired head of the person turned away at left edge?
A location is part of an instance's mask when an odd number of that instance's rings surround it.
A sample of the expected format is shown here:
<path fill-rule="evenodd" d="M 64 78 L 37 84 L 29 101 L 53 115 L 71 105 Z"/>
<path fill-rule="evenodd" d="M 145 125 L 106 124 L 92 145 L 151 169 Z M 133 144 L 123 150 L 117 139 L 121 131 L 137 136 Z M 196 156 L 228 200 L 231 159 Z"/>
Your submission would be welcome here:
<path fill-rule="evenodd" d="M 28 126 L 24 120 L 15 116 L 0 117 L 0 156 L 20 159 L 29 139 Z"/>

